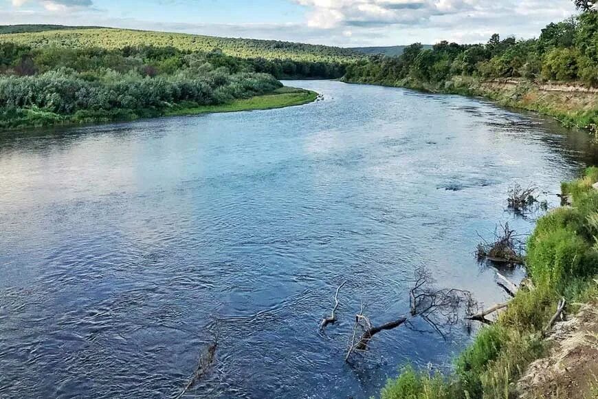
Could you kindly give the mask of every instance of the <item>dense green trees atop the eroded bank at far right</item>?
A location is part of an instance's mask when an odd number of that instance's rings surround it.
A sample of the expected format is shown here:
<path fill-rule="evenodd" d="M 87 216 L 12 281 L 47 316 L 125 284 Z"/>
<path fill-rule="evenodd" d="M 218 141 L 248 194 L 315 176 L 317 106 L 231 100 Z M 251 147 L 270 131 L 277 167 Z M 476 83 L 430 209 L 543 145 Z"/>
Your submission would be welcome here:
<path fill-rule="evenodd" d="M 347 67 L 348 82 L 417 86 L 441 85 L 453 76 L 527 78 L 598 85 L 598 14 L 587 11 L 551 23 L 538 39 L 500 39 L 484 45 L 442 41 L 426 50 L 419 43 L 398 57 L 377 56 Z"/>

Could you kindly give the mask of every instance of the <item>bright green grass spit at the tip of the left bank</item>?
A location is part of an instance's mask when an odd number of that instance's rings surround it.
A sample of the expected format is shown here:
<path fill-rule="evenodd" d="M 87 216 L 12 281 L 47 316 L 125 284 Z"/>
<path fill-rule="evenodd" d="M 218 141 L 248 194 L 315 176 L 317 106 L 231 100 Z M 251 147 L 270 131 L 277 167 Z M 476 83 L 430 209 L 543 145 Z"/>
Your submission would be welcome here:
<path fill-rule="evenodd" d="M 318 98 L 315 91 L 281 87 L 272 94 L 234 100 L 232 103 L 221 105 L 202 105 L 200 107 L 180 105 L 164 113 L 165 116 L 182 116 L 208 114 L 215 112 L 255 111 L 261 109 L 276 109 L 304 105 Z"/>

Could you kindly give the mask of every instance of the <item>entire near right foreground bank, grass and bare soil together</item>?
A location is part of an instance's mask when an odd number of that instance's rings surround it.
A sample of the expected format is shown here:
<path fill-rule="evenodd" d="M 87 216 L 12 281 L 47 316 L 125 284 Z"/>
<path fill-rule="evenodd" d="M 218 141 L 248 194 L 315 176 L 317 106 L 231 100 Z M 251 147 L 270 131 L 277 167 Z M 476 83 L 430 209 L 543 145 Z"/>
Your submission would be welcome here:
<path fill-rule="evenodd" d="M 562 331 L 558 309 L 564 301 L 564 314 L 575 314 L 587 308 L 584 303 L 598 299 L 598 191 L 593 188 L 597 181 L 598 169 L 592 167 L 581 179 L 562 185 L 562 195 L 571 196 L 573 206 L 556 208 L 538 220 L 527 242 L 531 282 L 516 286 L 506 310 L 487 321 L 490 325 L 456 358 L 454 373 L 445 376 L 408 367 L 388 382 L 382 399 L 595 398 L 598 383 L 590 372 L 595 370 L 598 349 L 595 341 L 579 341 L 588 331 L 594 334 L 595 314 L 580 314 L 585 326 L 558 338 Z M 591 356 L 575 361 L 580 351 Z M 538 369 L 538 365 L 551 368 Z M 566 365 L 578 369 L 579 375 L 564 376 L 568 373 L 558 369 Z M 576 388 L 571 387 L 572 381 Z M 562 396 L 572 389 L 575 396 Z"/>

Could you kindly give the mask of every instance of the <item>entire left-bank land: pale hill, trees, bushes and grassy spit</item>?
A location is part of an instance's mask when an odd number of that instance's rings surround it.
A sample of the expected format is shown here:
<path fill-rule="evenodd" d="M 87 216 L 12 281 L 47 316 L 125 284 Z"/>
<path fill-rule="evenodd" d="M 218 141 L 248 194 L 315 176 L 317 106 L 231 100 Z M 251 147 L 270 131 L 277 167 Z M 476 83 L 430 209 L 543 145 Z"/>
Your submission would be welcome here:
<path fill-rule="evenodd" d="M 0 129 L 301 105 L 317 94 L 278 79 L 339 78 L 359 58 L 337 47 L 188 34 L 5 31 Z"/>

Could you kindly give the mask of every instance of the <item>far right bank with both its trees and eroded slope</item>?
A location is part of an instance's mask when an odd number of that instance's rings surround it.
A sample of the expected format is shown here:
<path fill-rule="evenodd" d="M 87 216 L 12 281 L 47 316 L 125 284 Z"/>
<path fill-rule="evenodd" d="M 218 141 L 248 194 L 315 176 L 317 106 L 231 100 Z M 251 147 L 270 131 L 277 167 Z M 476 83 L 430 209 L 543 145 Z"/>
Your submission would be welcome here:
<path fill-rule="evenodd" d="M 400 56 L 375 56 L 347 67 L 343 80 L 437 93 L 484 96 L 500 105 L 553 116 L 567 126 L 598 125 L 598 13 L 551 23 L 538 39 L 485 45 L 412 44 Z"/>

